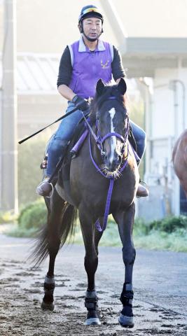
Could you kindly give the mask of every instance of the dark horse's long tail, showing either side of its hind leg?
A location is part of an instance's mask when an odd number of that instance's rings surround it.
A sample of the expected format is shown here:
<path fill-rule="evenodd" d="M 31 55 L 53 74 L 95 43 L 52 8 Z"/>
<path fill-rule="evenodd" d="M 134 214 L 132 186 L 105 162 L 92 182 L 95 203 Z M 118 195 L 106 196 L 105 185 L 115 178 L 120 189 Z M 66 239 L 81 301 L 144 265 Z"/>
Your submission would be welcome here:
<path fill-rule="evenodd" d="M 68 239 L 68 243 L 73 241 L 75 234 L 76 222 L 78 219 L 78 210 L 71 204 L 65 203 L 62 209 L 62 221 L 57 230 L 59 232 L 58 239 L 60 239 L 60 248 L 65 244 Z M 51 225 L 50 223 L 50 212 L 48 213 L 48 221 L 41 230 L 38 232 L 38 237 L 36 237 L 36 244 L 32 253 L 29 255 L 29 259 L 34 262 L 34 267 L 39 267 L 41 262 L 45 260 L 49 254 L 48 244 L 51 235 Z M 54 228 L 55 230 L 55 228 Z"/>

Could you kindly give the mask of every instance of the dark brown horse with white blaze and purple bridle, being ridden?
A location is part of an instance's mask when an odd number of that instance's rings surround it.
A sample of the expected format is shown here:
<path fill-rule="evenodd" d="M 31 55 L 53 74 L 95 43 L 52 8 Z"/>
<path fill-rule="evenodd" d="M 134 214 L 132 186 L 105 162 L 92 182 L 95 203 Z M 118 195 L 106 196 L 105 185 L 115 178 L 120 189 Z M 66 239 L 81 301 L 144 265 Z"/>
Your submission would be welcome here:
<path fill-rule="evenodd" d="M 98 244 L 108 214 L 112 214 L 118 223 L 125 264 L 125 282 L 120 295 L 123 309 L 118 321 L 124 327 L 134 325 L 132 268 L 136 253 L 132 230 L 139 173 L 134 152 L 128 142 L 130 127 L 125 108 L 125 91 L 123 78 L 118 85 L 111 86 L 105 86 L 102 80 L 98 81 L 97 93 L 90 106 L 90 134 L 78 156 L 71 160 L 69 182 L 62 169 L 53 196 L 46 199 L 48 223 L 41 232 L 35 250 L 38 263 L 47 255 L 50 257 L 41 307 L 54 309 L 55 258 L 60 246 L 73 232 L 78 210 L 85 244 L 85 271 L 88 275 L 88 288 L 85 293 L 85 307 L 88 309 L 86 325 L 100 324 L 95 272 L 98 265 Z"/>

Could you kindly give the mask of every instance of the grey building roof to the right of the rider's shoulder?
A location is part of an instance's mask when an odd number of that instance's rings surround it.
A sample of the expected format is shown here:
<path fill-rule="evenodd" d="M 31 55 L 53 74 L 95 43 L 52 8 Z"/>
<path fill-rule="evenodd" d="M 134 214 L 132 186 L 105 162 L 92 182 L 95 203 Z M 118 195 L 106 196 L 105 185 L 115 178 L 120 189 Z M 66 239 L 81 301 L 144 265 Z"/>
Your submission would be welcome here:
<path fill-rule="evenodd" d="M 127 76 L 154 77 L 155 69 L 187 67 L 187 38 L 128 37 L 120 45 Z"/>

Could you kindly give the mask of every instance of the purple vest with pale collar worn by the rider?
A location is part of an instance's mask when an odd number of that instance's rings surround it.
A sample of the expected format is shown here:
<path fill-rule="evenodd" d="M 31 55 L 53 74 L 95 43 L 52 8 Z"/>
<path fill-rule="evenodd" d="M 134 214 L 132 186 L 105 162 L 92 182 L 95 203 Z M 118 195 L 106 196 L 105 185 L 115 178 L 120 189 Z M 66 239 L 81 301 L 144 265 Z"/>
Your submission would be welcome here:
<path fill-rule="evenodd" d="M 95 51 L 90 51 L 81 36 L 69 51 L 73 68 L 69 87 L 82 98 L 94 97 L 97 80 L 109 83 L 112 79 L 113 45 L 99 40 Z"/>

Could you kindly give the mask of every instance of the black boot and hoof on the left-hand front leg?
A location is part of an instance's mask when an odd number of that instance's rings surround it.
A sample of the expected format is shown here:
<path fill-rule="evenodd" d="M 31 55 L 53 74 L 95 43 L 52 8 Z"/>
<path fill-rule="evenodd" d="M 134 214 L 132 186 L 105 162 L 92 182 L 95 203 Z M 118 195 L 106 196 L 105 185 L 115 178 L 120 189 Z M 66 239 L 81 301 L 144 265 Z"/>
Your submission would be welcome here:
<path fill-rule="evenodd" d="M 85 325 L 100 325 L 99 316 L 97 313 L 97 295 L 95 290 L 87 290 L 85 293 L 85 307 L 88 309 Z"/>

